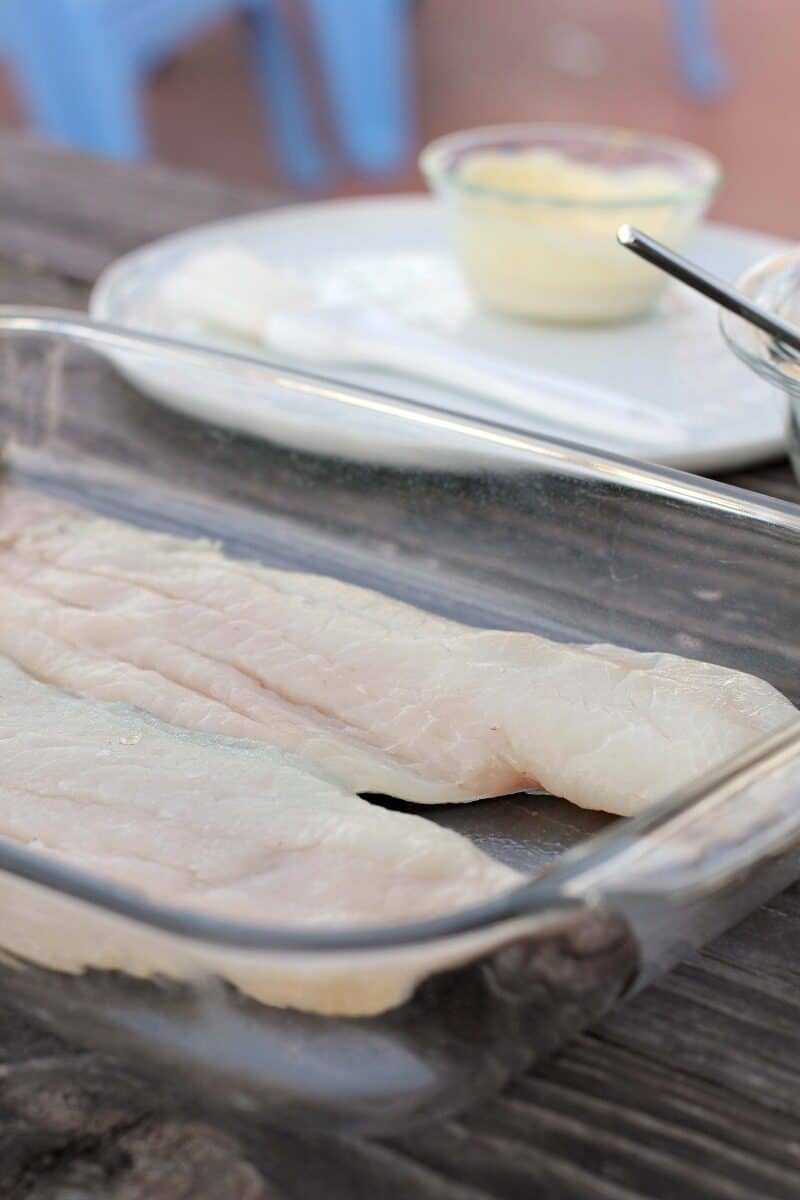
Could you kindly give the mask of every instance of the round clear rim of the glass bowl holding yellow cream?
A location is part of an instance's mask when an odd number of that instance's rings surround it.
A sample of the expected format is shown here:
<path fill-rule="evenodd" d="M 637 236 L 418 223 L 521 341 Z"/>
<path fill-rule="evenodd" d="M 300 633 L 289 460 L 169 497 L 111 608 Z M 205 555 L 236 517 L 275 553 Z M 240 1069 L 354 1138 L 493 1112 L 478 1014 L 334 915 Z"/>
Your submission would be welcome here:
<path fill-rule="evenodd" d="M 457 150 L 459 146 L 463 146 L 465 150 L 471 148 L 486 149 L 498 142 L 518 140 L 524 143 L 533 142 L 535 138 L 548 136 L 561 137 L 565 142 L 570 138 L 579 136 L 584 140 L 589 139 L 597 143 L 613 143 L 615 138 L 626 138 L 628 139 L 628 143 L 632 143 L 636 139 L 642 144 L 663 146 L 664 149 L 676 152 L 686 160 L 692 160 L 694 163 L 699 164 L 705 178 L 699 179 L 694 184 L 685 182 L 682 186 L 676 186 L 669 192 L 661 192 L 656 196 L 642 197 L 630 194 L 599 197 L 594 200 L 587 200 L 585 197 L 577 196 L 553 197 L 536 196 L 535 193 L 522 194 L 519 192 L 507 192 L 498 187 L 486 187 L 482 184 L 474 184 L 461 179 L 457 172 L 455 172 L 452 167 L 446 166 L 444 161 L 446 155 Z M 710 155 L 700 146 L 696 146 L 691 142 L 684 142 L 681 138 L 662 137 L 661 134 L 644 133 L 638 130 L 627 130 L 624 126 L 613 125 L 530 122 L 476 126 L 471 130 L 459 130 L 456 133 L 445 133 L 443 137 L 434 138 L 433 142 L 429 142 L 422 149 L 417 162 L 420 170 L 428 182 L 428 186 L 433 191 L 450 188 L 453 192 L 482 197 L 485 199 L 503 200 L 507 204 L 548 209 L 613 211 L 614 209 L 630 208 L 632 204 L 636 204 L 637 209 L 648 209 L 663 208 L 667 204 L 678 205 L 694 198 L 700 198 L 709 203 L 723 180 L 722 164 L 714 157 L 714 155 Z"/>

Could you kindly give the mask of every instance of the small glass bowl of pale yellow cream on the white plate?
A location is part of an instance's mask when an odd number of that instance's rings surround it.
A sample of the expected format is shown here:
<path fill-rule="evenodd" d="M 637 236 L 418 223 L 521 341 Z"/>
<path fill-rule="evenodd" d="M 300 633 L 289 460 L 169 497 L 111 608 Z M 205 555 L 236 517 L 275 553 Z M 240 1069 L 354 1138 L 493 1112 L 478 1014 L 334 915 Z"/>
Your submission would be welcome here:
<path fill-rule="evenodd" d="M 576 190 L 504 190 L 465 178 L 465 164 L 479 155 L 505 160 L 531 151 L 557 170 L 576 164 Z M 648 308 L 664 280 L 616 245 L 616 229 L 638 224 L 679 250 L 721 179 L 716 160 L 687 143 L 579 125 L 453 133 L 426 146 L 420 168 L 444 203 L 477 299 L 554 322 L 622 320 Z"/>

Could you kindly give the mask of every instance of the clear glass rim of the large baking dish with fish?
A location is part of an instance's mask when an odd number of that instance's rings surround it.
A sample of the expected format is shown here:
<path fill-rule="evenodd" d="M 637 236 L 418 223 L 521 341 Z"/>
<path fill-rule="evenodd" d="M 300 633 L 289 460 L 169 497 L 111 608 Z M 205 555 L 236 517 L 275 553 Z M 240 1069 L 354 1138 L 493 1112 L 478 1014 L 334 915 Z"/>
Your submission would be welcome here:
<path fill-rule="evenodd" d="M 661 494 L 679 500 L 696 500 L 720 512 L 744 516 L 748 520 L 778 527 L 800 538 L 800 512 L 795 505 L 768 497 L 759 497 L 744 488 L 732 487 L 711 480 L 655 467 L 633 458 L 625 458 L 606 451 L 594 450 L 545 434 L 524 433 L 512 426 L 481 421 L 457 413 L 434 408 L 417 401 L 391 396 L 366 388 L 356 388 L 341 380 L 273 366 L 267 360 L 236 352 L 211 349 L 192 342 L 162 337 L 156 334 L 132 331 L 124 326 L 96 322 L 83 313 L 70 310 L 0 306 L 0 337 L 30 335 L 60 338 L 66 343 L 83 344 L 96 350 L 128 350 L 163 355 L 175 361 L 206 360 L 219 370 L 225 365 L 246 365 L 259 368 L 267 376 L 296 378 L 327 385 L 326 395 L 332 404 L 347 403 L 351 394 L 357 407 L 363 407 L 365 397 L 372 397 L 379 409 L 393 418 L 426 424 L 428 420 L 441 426 L 443 414 L 452 416 L 452 426 L 459 432 L 469 432 L 476 440 L 493 445 L 498 440 L 511 442 L 516 450 L 528 450 L 534 458 L 561 462 L 588 472 L 597 480 L 625 482 L 650 494 Z M 331 390 L 331 384 L 333 389 Z M 1 446 L 0 446 L 1 451 Z M 0 468 L 1 468 L 0 454 Z M 489 930 L 519 917 L 533 917 L 559 910 L 582 906 L 585 901 L 569 894 L 564 880 L 579 877 L 583 864 L 595 851 L 613 847 L 618 842 L 628 844 L 631 836 L 668 823 L 676 815 L 693 808 L 720 787 L 729 785 L 741 775 L 771 769 L 777 757 L 790 751 L 800 756 L 800 728 L 788 731 L 757 743 L 756 746 L 729 764 L 709 774 L 690 788 L 667 797 L 646 812 L 636 817 L 619 818 L 604 830 L 567 851 L 557 859 L 546 874 L 535 877 L 501 896 L 480 905 L 459 910 L 443 917 L 417 920 L 402 925 L 361 926 L 341 930 L 314 930 L 289 926 L 269 926 L 263 923 L 229 920 L 211 914 L 198 913 L 172 905 L 162 905 L 130 892 L 122 887 L 89 872 L 50 862 L 35 852 L 13 844 L 0 841 L 0 871 L 47 888 L 65 898 L 84 901 L 96 910 L 149 926 L 158 932 L 172 934 L 184 940 L 212 944 L 224 949 L 264 950 L 287 953 L 330 954 L 344 950 L 391 950 L 409 946 L 425 946 L 457 935 Z"/>

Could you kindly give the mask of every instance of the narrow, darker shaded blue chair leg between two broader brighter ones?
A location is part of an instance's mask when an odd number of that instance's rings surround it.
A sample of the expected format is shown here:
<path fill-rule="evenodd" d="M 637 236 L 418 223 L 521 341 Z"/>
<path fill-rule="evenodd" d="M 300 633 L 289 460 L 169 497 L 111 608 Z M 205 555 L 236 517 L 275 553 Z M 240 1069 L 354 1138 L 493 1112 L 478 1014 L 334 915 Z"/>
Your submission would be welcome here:
<path fill-rule="evenodd" d="M 264 120 L 283 169 L 299 184 L 318 186 L 329 175 L 329 163 L 314 136 L 291 31 L 272 0 L 248 7 L 247 22 Z"/>

